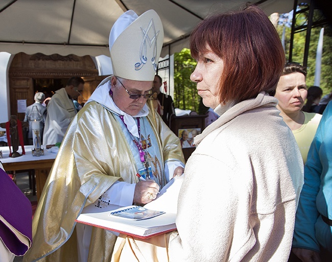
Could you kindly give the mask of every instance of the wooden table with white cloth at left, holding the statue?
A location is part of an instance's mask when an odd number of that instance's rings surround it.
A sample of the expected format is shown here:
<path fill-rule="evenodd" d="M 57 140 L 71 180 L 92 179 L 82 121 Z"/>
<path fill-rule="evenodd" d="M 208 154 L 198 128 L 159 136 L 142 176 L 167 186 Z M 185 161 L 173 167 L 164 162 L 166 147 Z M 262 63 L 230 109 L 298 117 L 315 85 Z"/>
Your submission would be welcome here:
<path fill-rule="evenodd" d="M 25 155 L 13 158 L 9 157 L 9 147 L 0 147 L 0 150 L 2 150 L 3 152 L 3 158 L 1 158 L 0 160 L 6 172 L 21 170 L 35 171 L 36 195 L 38 201 L 57 154 L 50 153 L 48 152 L 48 149 L 45 149 L 45 147 L 43 147 L 43 156 L 33 156 L 31 153 L 31 149 L 33 148 L 33 146 L 25 146 L 24 148 L 26 151 Z M 21 147 L 19 147 L 18 152 L 22 153 Z"/>

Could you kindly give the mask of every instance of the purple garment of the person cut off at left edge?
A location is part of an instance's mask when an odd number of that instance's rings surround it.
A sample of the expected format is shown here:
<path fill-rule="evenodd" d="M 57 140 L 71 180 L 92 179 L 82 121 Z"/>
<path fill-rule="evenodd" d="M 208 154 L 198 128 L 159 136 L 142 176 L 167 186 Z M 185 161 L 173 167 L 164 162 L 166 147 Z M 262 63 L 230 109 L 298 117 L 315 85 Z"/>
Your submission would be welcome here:
<path fill-rule="evenodd" d="M 0 168 L 0 215 L 32 243 L 32 207 L 8 174 Z M 0 237 L 14 255 L 24 255 L 29 247 L 0 221 Z"/>

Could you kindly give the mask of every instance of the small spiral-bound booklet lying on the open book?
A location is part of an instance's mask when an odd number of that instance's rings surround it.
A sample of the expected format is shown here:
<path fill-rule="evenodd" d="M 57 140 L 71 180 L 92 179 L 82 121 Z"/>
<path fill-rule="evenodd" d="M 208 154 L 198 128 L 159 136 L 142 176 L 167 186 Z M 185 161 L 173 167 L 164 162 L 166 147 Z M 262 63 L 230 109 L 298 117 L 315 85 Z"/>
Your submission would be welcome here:
<path fill-rule="evenodd" d="M 143 206 L 126 206 L 113 210 L 109 215 L 132 220 L 142 220 L 154 218 L 163 213 L 165 212 L 147 209 Z"/>

